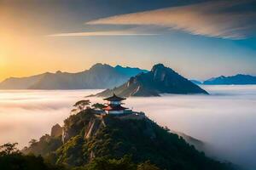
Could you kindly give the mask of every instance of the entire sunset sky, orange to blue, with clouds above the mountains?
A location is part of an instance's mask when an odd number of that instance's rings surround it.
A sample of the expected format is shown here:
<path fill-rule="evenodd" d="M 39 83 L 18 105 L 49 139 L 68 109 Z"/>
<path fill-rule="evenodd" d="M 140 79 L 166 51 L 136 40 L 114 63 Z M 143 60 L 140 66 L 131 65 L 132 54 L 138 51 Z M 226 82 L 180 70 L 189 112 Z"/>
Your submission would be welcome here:
<path fill-rule="evenodd" d="M 0 0 L 0 81 L 98 62 L 256 76 L 255 0 Z"/>

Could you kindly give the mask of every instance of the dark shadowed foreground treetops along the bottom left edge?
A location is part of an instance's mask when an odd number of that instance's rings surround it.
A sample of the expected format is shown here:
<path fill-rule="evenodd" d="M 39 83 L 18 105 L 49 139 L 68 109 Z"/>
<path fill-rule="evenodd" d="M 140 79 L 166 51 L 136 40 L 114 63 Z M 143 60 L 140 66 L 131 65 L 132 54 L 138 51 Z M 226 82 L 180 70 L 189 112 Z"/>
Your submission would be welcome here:
<path fill-rule="evenodd" d="M 15 144 L 3 144 L 0 146 L 0 169 L 8 170 L 160 170 L 149 161 L 134 164 L 131 156 L 125 156 L 119 160 L 108 157 L 96 158 L 84 167 L 64 167 L 45 161 L 42 156 L 24 155 L 17 150 Z"/>

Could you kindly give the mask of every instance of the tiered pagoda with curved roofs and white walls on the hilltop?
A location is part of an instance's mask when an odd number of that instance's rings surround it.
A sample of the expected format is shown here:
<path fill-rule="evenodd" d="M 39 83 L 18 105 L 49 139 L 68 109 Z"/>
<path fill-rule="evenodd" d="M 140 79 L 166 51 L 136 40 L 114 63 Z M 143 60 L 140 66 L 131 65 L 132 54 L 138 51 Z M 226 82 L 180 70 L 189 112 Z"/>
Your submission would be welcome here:
<path fill-rule="evenodd" d="M 122 115 L 125 113 L 125 110 L 128 109 L 122 106 L 123 105 L 122 101 L 125 100 L 125 98 L 120 98 L 115 94 L 113 94 L 113 96 L 106 98 L 104 100 L 108 101 L 108 103 L 103 108 L 103 111 L 106 111 L 107 114 Z"/>

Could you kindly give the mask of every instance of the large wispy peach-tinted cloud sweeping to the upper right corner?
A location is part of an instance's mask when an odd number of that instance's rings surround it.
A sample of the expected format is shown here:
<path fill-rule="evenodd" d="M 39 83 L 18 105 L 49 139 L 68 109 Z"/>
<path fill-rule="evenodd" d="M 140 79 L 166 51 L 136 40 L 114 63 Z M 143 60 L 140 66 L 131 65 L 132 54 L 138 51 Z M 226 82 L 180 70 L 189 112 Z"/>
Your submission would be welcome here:
<path fill-rule="evenodd" d="M 194 35 L 242 39 L 256 30 L 253 1 L 212 1 L 91 20 L 88 25 L 160 26 Z"/>

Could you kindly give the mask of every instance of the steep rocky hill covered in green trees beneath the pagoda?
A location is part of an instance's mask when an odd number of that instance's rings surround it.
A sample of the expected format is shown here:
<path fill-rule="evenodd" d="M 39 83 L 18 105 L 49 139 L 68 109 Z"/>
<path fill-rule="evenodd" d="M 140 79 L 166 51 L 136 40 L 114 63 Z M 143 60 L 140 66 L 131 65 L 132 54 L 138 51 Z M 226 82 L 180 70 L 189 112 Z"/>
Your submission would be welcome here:
<path fill-rule="evenodd" d="M 77 170 L 235 169 L 205 156 L 147 117 L 96 116 L 90 108 L 65 120 L 62 137 L 44 136 L 23 153 L 41 155 L 54 165 Z"/>

